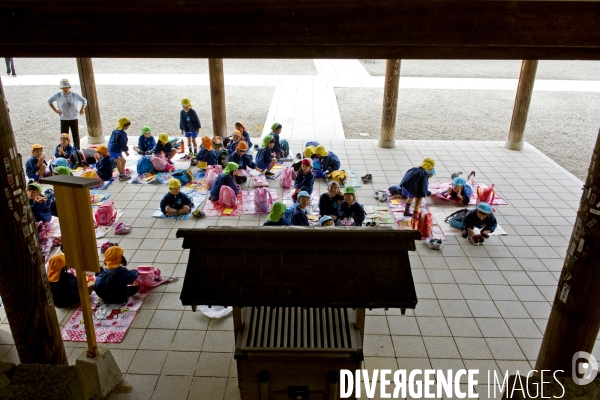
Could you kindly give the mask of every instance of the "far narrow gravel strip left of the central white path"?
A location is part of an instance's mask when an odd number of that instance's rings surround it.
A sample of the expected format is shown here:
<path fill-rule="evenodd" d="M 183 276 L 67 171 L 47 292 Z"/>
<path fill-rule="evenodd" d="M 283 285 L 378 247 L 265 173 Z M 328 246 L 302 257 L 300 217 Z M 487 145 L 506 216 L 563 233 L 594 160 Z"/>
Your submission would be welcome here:
<path fill-rule="evenodd" d="M 96 74 L 208 74 L 208 59 L 94 58 Z M 74 58 L 15 58 L 18 75 L 76 74 Z M 313 60 L 226 59 L 226 74 L 317 75 Z M 58 86 L 58 82 L 56 83 Z"/>

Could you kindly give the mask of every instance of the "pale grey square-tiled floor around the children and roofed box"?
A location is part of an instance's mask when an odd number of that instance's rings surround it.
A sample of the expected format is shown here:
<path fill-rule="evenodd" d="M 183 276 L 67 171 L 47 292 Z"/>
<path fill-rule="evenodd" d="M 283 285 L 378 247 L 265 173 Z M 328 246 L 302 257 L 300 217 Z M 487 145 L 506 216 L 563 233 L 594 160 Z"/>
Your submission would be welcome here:
<path fill-rule="evenodd" d="M 448 236 L 442 251 L 417 243 L 411 254 L 419 303 L 399 310 L 368 312 L 366 368 L 479 368 L 529 370 L 534 366 L 554 298 L 562 260 L 579 205 L 581 182 L 537 150 L 509 151 L 499 142 L 399 141 L 380 149 L 374 141 L 322 142 L 359 175 L 374 183 L 358 189 L 358 200 L 375 204 L 373 189 L 397 184 L 424 157 L 433 157 L 441 181 L 456 170 L 477 170 L 477 181 L 494 183 L 508 202 L 496 217 L 508 233 L 475 247 Z M 292 153 L 303 143 L 292 141 Z M 275 187 L 278 187 L 275 184 Z M 318 182 L 315 189 L 324 190 Z M 133 225 L 126 237 L 114 236 L 132 265 L 154 263 L 164 274 L 183 277 L 187 251 L 175 238 L 179 228 L 209 225 L 256 226 L 265 216 L 172 221 L 150 216 L 165 185 L 115 182 L 108 191 L 123 221 Z M 280 189 L 279 189 L 280 190 Z M 436 205 L 450 214 L 451 204 Z M 443 221 L 438 221 L 444 223 Z M 110 399 L 237 399 L 231 316 L 210 320 L 181 306 L 182 281 L 155 288 L 145 300 L 125 340 L 109 347 L 125 375 Z M 71 310 L 57 310 L 67 321 Z M 6 318 L 0 325 L 0 358 L 18 362 Z M 65 342 L 73 362 L 83 343 Z M 595 356 L 600 358 L 600 346 Z M 481 398 L 487 397 L 480 386 Z"/>

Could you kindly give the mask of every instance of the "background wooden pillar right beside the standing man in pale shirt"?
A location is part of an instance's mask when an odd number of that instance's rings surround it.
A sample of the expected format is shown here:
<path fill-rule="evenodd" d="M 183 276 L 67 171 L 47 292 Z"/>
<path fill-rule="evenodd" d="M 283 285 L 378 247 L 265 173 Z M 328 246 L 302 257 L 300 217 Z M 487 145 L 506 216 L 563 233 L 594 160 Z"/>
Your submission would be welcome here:
<path fill-rule="evenodd" d="M 88 143 L 104 143 L 105 139 L 102 134 L 102 121 L 100 120 L 100 107 L 98 106 L 98 94 L 96 93 L 96 80 L 94 79 L 92 59 L 78 58 L 77 70 L 79 71 L 81 95 L 88 101 L 85 110 L 85 121 L 88 127 Z"/>

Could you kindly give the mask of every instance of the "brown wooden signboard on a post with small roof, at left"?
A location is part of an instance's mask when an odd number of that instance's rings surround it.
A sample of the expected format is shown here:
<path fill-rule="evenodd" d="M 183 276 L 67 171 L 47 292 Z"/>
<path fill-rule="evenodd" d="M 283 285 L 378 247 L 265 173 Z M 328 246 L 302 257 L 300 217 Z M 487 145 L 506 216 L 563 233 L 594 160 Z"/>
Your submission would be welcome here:
<path fill-rule="evenodd" d="M 64 175 L 56 175 L 41 181 L 54 185 L 67 265 L 75 268 L 77 272 L 77 288 L 88 344 L 87 356 L 93 358 L 98 355 L 98 347 L 85 272 L 100 272 L 96 232 L 88 189 L 90 186 L 97 185 L 98 182 L 94 179 Z"/>

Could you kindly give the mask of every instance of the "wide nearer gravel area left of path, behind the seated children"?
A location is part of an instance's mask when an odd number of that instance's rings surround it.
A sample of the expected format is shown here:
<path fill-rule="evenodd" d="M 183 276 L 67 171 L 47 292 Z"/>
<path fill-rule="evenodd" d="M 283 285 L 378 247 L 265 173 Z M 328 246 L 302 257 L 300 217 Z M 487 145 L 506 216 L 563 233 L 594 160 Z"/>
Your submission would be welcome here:
<path fill-rule="evenodd" d="M 29 148 L 40 143 L 45 151 L 54 155 L 58 144 L 60 122 L 58 115 L 50 110 L 47 99 L 55 91 L 52 86 L 9 86 L 4 88 L 9 103 L 10 117 L 23 161 L 29 157 Z M 73 86 L 79 92 L 78 86 Z M 131 118 L 128 133 L 138 136 L 143 125 L 152 128 L 155 136 L 160 132 L 180 135 L 180 101 L 184 96 L 192 99 L 192 105 L 202 122 L 201 134 L 212 136 L 210 89 L 208 86 L 104 86 L 99 85 L 98 102 L 102 114 L 102 129 L 110 135 L 119 117 Z M 263 124 L 273 99 L 274 87 L 226 86 L 225 104 L 227 122 L 233 131 L 234 123 L 242 121 L 250 136 L 260 137 Z M 87 136 L 85 117 L 79 119 L 80 136 Z M 51 150 L 52 149 L 52 150 Z"/>

